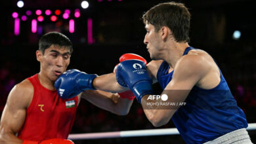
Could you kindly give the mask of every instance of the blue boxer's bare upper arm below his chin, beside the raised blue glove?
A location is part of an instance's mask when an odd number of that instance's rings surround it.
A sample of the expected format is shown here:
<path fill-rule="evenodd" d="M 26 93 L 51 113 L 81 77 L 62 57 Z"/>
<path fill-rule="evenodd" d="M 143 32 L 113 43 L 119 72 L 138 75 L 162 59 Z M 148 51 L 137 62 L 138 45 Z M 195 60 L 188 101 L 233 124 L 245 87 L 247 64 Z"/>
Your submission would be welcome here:
<path fill-rule="evenodd" d="M 152 60 L 149 62 L 146 67 L 148 69 L 148 73 L 150 74 L 151 78 L 153 79 L 153 83 L 157 82 L 157 75 L 158 75 L 158 69 L 161 65 L 163 60 Z"/>

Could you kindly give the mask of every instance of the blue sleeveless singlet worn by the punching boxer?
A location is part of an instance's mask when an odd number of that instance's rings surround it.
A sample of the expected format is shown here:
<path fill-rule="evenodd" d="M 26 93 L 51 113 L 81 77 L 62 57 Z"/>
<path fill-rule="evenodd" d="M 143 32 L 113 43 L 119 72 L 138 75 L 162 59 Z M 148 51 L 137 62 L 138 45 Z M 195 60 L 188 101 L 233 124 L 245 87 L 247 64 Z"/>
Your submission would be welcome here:
<path fill-rule="evenodd" d="M 183 56 L 190 50 L 194 48 L 186 48 Z M 163 89 L 173 77 L 173 71 L 168 71 L 168 63 L 162 62 L 157 79 Z M 172 117 L 186 143 L 203 143 L 248 126 L 221 71 L 220 75 L 221 80 L 214 88 L 194 86 L 185 100 L 186 105 L 179 107 Z"/>

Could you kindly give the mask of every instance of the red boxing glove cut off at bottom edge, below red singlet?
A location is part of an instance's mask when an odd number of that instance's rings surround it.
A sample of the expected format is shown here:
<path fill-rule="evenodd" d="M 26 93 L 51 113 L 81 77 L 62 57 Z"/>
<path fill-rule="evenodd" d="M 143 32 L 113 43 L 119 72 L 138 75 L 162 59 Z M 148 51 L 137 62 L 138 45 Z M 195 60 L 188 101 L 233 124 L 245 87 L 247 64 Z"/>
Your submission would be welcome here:
<path fill-rule="evenodd" d="M 47 139 L 40 142 L 24 140 L 22 144 L 74 144 L 74 143 L 69 139 Z"/>

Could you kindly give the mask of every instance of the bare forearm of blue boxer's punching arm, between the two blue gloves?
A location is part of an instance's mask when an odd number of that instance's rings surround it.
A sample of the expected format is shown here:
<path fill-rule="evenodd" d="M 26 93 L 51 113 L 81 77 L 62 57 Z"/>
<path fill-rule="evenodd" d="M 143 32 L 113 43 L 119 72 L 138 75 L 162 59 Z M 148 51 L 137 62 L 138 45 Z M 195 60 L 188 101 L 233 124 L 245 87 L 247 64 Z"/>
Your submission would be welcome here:
<path fill-rule="evenodd" d="M 120 86 L 116 81 L 116 73 L 109 73 L 101 75 L 93 80 L 93 87 L 97 90 L 104 90 L 106 92 L 124 92 L 128 90 Z"/>

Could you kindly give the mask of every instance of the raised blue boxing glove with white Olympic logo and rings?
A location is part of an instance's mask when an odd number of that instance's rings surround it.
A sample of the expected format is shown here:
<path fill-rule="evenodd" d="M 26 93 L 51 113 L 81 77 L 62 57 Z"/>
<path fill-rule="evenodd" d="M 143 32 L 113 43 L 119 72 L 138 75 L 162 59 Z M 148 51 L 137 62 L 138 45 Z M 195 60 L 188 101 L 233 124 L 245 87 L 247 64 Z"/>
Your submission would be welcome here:
<path fill-rule="evenodd" d="M 121 86 L 129 87 L 139 103 L 146 94 L 153 94 L 152 79 L 146 64 L 140 60 L 126 60 L 117 66 L 116 79 Z"/>

